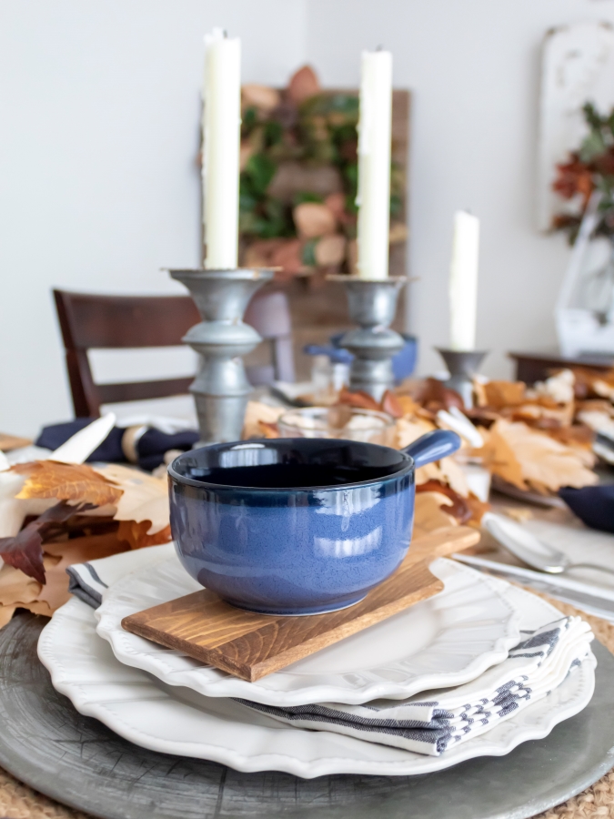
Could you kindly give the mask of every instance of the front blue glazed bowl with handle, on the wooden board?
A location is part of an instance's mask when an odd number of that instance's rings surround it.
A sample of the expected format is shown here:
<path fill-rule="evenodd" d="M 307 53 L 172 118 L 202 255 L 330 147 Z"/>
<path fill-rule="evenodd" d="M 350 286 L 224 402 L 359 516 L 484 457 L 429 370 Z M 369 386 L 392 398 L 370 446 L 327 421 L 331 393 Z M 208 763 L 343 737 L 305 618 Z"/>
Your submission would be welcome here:
<path fill-rule="evenodd" d="M 393 450 L 351 440 L 216 444 L 169 467 L 179 560 L 252 612 L 351 606 L 397 569 L 414 517 L 414 470 L 458 450 L 436 430 Z"/>

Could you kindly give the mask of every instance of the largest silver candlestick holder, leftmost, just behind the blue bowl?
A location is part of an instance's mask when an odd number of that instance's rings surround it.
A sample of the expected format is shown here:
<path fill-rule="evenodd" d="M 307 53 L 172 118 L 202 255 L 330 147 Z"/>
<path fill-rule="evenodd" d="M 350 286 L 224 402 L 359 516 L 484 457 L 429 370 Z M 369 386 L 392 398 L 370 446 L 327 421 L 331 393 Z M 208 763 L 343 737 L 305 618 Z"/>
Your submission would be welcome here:
<path fill-rule="evenodd" d="M 249 299 L 273 270 L 169 270 L 190 291 L 202 316 L 184 341 L 201 357 L 190 386 L 196 402 L 200 445 L 240 440 L 252 391 L 241 356 L 262 340 L 243 322 Z"/>

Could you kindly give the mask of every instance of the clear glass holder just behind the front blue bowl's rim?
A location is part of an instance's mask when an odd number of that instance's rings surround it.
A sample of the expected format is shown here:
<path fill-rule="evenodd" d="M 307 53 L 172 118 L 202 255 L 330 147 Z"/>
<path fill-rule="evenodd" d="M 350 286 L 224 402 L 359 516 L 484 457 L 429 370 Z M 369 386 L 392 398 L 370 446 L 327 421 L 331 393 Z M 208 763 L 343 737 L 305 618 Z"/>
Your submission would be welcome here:
<path fill-rule="evenodd" d="M 277 421 L 281 438 L 337 438 L 394 446 L 395 420 L 386 412 L 345 404 L 288 410 Z"/>

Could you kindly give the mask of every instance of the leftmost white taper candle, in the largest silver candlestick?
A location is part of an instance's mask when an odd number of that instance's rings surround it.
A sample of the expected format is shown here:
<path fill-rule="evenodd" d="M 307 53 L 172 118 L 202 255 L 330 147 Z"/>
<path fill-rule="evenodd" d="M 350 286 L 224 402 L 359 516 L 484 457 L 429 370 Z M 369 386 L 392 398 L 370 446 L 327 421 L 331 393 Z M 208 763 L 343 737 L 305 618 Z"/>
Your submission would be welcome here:
<path fill-rule="evenodd" d="M 241 41 L 215 28 L 205 37 L 203 219 L 209 269 L 237 268 Z"/>

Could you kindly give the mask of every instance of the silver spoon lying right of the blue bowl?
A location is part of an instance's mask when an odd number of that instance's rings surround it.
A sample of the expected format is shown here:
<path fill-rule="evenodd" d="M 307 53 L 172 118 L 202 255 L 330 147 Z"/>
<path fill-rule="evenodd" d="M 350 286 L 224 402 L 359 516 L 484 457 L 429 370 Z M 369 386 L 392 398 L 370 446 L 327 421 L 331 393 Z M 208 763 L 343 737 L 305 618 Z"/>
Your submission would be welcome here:
<path fill-rule="evenodd" d="M 570 561 L 564 552 L 540 541 L 523 526 L 494 512 L 486 512 L 482 518 L 482 526 L 508 551 L 539 571 L 546 571 L 548 574 L 563 574 L 571 569 L 597 569 L 614 574 L 614 569 L 599 566 L 597 563 Z"/>

